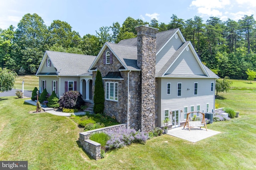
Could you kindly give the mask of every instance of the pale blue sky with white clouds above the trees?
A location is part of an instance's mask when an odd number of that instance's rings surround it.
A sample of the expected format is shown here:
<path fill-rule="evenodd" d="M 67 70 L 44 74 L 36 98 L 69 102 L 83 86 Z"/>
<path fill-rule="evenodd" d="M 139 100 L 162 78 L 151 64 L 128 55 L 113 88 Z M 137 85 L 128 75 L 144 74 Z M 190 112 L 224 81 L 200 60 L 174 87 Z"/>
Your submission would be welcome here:
<path fill-rule="evenodd" d="M 100 27 L 113 22 L 122 25 L 129 16 L 166 24 L 172 14 L 184 20 L 200 16 L 204 22 L 210 16 L 222 21 L 238 21 L 244 15 L 256 19 L 256 0 L 0 0 L 0 28 L 17 27 L 27 13 L 38 14 L 47 26 L 53 20 L 66 21 L 83 36 L 96 35 Z"/>

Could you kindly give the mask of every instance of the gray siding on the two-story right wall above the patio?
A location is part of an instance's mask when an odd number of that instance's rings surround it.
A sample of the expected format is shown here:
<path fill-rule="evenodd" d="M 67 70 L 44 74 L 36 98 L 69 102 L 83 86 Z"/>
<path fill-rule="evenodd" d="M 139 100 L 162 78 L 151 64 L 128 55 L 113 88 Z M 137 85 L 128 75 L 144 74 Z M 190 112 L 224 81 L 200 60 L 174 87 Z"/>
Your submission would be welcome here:
<path fill-rule="evenodd" d="M 184 120 L 184 107 L 188 107 L 190 112 L 190 106 L 200 105 L 200 112 L 206 112 L 206 104 L 209 104 L 209 112 L 214 109 L 214 91 L 211 91 L 211 82 L 214 82 L 212 78 L 162 78 L 161 82 L 161 120 L 158 120 L 158 126 L 164 120 L 164 110 L 170 111 L 182 110 L 180 113 L 180 123 Z M 198 83 L 198 95 L 194 95 L 194 82 Z M 171 94 L 166 94 L 167 83 L 171 83 Z M 177 84 L 182 83 L 182 96 L 177 96 Z M 215 86 L 215 84 L 214 84 Z M 189 89 L 189 90 L 188 90 Z M 170 117 L 172 118 L 172 117 Z"/>

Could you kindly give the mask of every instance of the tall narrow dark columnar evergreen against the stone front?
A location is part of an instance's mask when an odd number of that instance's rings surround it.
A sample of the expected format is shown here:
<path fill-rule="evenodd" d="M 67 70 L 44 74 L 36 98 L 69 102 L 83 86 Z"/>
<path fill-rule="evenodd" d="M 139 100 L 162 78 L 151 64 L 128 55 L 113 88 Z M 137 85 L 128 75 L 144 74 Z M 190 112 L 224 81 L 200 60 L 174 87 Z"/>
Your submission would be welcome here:
<path fill-rule="evenodd" d="M 94 88 L 94 107 L 93 111 L 94 113 L 103 113 L 104 111 L 104 87 L 103 87 L 103 81 L 102 76 L 99 70 L 97 70 L 96 73 L 96 79 L 95 79 L 95 88 Z"/>

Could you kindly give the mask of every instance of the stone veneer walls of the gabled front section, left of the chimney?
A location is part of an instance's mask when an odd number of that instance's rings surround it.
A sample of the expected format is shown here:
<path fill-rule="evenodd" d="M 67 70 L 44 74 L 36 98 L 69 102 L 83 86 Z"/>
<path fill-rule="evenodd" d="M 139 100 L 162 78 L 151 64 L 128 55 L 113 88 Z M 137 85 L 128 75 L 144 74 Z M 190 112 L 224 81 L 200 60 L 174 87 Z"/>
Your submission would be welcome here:
<path fill-rule="evenodd" d="M 103 52 L 110 51 L 106 48 Z M 106 76 L 108 72 L 118 72 L 122 64 L 118 59 L 112 56 L 112 64 L 104 64 L 103 54 L 98 60 L 95 67 L 100 70 L 102 77 Z M 132 71 L 129 73 L 129 127 L 138 130 L 138 84 L 140 78 L 140 72 Z M 104 113 L 109 116 L 116 117 L 116 120 L 120 123 L 127 123 L 127 95 L 128 95 L 128 71 L 121 71 L 121 75 L 124 80 L 103 80 L 104 91 L 106 86 L 106 81 L 108 82 L 118 82 L 118 102 L 105 100 L 104 102 Z M 95 86 L 96 72 L 92 75 L 92 95 L 94 96 L 94 86 Z M 93 98 L 93 97 L 92 97 Z"/>

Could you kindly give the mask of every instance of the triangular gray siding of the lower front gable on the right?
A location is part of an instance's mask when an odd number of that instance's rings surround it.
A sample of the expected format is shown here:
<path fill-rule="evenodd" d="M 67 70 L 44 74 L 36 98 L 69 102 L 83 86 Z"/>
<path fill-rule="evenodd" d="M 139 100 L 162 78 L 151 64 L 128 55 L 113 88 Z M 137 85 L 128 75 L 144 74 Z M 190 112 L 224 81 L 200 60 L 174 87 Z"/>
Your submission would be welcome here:
<path fill-rule="evenodd" d="M 185 49 L 166 73 L 204 75 L 204 72 L 190 49 L 188 51 Z"/>

